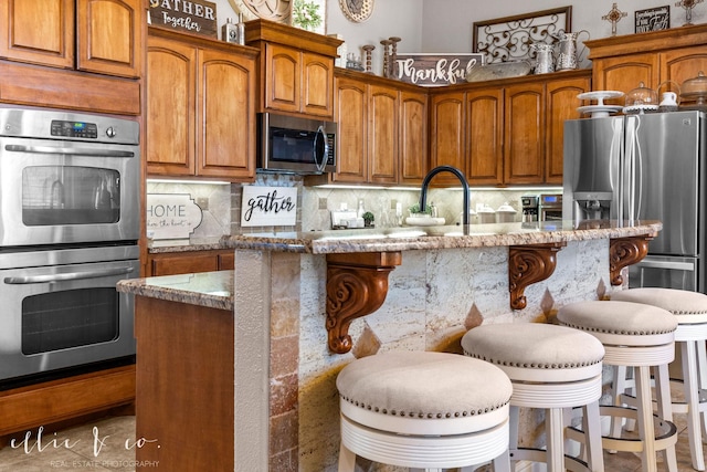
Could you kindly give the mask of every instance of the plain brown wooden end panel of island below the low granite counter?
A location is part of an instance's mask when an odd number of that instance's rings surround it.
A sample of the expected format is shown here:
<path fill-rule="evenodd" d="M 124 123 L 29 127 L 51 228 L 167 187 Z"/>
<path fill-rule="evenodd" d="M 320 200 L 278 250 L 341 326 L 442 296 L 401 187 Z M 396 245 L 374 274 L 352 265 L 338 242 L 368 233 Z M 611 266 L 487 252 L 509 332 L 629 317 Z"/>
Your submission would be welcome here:
<path fill-rule="evenodd" d="M 234 470 L 233 329 L 232 311 L 136 296 L 137 471 Z"/>

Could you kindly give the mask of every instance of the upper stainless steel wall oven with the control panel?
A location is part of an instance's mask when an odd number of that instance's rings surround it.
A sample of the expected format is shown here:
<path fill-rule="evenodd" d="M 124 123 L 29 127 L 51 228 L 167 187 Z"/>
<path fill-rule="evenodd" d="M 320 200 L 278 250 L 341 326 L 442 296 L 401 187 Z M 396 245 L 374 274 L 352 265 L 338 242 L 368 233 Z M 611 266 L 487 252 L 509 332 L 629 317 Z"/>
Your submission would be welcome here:
<path fill-rule="evenodd" d="M 139 126 L 0 108 L 0 245 L 139 238 Z"/>

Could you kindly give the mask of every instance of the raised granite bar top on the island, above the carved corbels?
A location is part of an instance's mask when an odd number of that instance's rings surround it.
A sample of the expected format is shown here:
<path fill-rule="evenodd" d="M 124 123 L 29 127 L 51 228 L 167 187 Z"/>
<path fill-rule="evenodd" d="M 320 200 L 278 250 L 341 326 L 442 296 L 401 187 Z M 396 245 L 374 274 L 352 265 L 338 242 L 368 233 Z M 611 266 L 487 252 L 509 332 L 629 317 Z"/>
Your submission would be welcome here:
<path fill-rule="evenodd" d="M 656 235 L 659 221 L 572 221 L 408 227 L 223 237 L 222 248 L 312 254 L 527 245 L 564 241 Z"/>

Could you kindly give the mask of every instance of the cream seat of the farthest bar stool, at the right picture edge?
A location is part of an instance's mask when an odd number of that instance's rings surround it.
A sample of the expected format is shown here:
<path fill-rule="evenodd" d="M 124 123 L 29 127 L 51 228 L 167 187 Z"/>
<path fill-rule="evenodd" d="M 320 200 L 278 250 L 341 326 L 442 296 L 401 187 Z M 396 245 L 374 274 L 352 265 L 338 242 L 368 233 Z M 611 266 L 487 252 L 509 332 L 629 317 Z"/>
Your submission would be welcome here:
<path fill-rule="evenodd" d="M 707 295 L 699 292 L 658 287 L 631 289 L 612 293 L 611 300 L 667 310 L 679 324 L 707 323 Z"/>

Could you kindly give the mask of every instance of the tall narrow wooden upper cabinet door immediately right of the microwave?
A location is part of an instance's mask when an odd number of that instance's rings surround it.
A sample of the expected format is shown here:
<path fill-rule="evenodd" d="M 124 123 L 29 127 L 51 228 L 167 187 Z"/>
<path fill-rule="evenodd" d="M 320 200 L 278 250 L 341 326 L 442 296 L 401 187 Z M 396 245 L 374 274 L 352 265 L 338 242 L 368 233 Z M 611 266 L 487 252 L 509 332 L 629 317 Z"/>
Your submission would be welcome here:
<path fill-rule="evenodd" d="M 337 182 L 365 182 L 367 166 L 367 117 L 368 102 L 366 83 L 351 78 L 336 80 L 335 119 L 338 162 L 333 180 Z"/>

